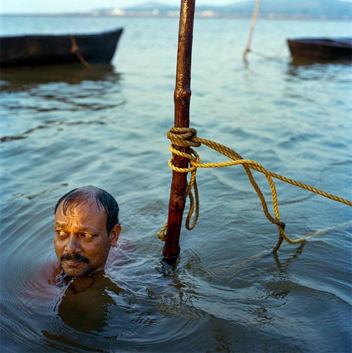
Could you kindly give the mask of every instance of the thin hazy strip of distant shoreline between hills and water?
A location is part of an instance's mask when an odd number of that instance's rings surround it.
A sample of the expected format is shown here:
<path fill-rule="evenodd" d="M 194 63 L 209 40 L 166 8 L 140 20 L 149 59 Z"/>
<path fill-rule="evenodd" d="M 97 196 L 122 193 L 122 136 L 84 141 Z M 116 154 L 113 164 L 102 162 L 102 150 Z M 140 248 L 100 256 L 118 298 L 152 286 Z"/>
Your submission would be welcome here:
<path fill-rule="evenodd" d="M 125 14 L 125 15 L 106 15 L 106 14 L 89 14 L 89 13 L 55 13 L 55 14 L 38 14 L 38 13 L 33 13 L 33 14 L 2 14 L 0 13 L 0 16 L 3 17 L 88 17 L 88 18 L 169 18 L 169 19 L 175 19 L 178 18 L 178 16 L 169 16 L 169 15 L 163 15 L 163 14 L 158 14 L 158 15 L 146 15 L 146 14 Z M 216 14 L 213 16 L 204 16 L 202 14 L 195 14 L 195 17 L 197 19 L 250 19 L 252 15 L 224 15 L 224 14 Z M 258 16 L 258 18 L 261 19 L 267 19 L 267 20 L 295 20 L 295 21 L 346 21 L 350 22 L 352 18 L 333 18 L 333 17 L 302 17 L 302 16 L 286 16 L 286 15 L 261 15 Z"/>

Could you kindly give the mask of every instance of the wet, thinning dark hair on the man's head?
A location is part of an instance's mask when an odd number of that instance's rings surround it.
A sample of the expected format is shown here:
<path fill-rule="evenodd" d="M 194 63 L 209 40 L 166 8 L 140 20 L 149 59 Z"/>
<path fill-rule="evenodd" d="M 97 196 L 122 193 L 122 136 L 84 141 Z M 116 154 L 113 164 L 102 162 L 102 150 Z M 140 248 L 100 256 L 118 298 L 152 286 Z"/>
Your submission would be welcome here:
<path fill-rule="evenodd" d="M 54 213 L 56 213 L 57 208 L 62 205 L 62 212 L 66 215 L 69 205 L 78 205 L 89 200 L 95 201 L 99 208 L 104 208 L 108 215 L 106 229 L 109 236 L 114 226 L 119 223 L 119 206 L 115 198 L 103 189 L 92 185 L 73 189 L 57 201 Z"/>

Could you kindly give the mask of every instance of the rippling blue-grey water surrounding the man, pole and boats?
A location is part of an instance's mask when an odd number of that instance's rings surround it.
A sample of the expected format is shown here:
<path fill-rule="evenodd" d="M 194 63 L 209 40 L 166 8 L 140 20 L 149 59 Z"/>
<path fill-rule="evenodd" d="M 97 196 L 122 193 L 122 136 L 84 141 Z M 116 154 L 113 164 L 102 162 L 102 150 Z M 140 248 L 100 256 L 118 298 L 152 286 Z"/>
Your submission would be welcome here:
<path fill-rule="evenodd" d="M 285 44 L 351 36 L 350 23 L 259 20 L 252 48 L 275 58 L 249 54 L 245 65 L 249 26 L 196 19 L 192 127 L 350 199 L 351 65 L 294 65 Z M 178 19 L 1 19 L 6 35 L 116 27 L 125 32 L 112 67 L 2 70 L 1 351 L 350 352 L 348 206 L 277 182 L 289 236 L 320 235 L 273 256 L 277 227 L 243 168 L 199 170 L 198 225 L 182 231 L 177 265 L 162 261 L 155 233 L 167 215 Z M 87 184 L 119 202 L 118 260 L 89 286 L 56 287 L 45 272 L 55 259 L 53 208 Z"/>

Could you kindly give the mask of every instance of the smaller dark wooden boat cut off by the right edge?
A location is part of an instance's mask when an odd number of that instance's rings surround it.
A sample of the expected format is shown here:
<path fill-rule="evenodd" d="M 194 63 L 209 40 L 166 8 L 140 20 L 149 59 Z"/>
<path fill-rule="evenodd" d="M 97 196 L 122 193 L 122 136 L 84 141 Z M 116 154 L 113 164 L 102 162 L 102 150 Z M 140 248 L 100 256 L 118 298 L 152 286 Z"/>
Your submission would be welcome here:
<path fill-rule="evenodd" d="M 352 59 L 352 38 L 288 39 L 294 60 Z"/>

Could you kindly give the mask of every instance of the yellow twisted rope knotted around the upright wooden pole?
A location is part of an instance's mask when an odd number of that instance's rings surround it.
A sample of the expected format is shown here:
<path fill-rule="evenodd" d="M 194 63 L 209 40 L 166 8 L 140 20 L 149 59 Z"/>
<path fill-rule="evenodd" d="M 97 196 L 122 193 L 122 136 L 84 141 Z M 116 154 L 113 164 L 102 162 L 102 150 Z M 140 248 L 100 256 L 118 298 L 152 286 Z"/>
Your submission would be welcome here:
<path fill-rule="evenodd" d="M 349 200 L 346 200 L 342 197 L 338 197 L 338 196 L 329 194 L 325 191 L 319 190 L 317 188 L 314 188 L 314 187 L 309 186 L 307 184 L 295 181 L 293 179 L 286 178 L 280 174 L 273 173 L 270 170 L 265 169 L 258 162 L 251 161 L 248 159 L 243 159 L 237 152 L 231 150 L 230 148 L 228 148 L 224 145 L 221 145 L 221 144 L 214 142 L 214 141 L 201 139 L 201 138 L 197 137 L 197 130 L 196 129 L 172 127 L 167 132 L 166 136 L 171 141 L 171 145 L 169 146 L 170 151 L 173 154 L 177 154 L 179 156 L 188 158 L 190 161 L 189 168 L 179 168 L 179 167 L 175 166 L 172 162 L 172 158 L 170 158 L 170 160 L 168 162 L 169 167 L 176 172 L 180 172 L 180 173 L 191 172 L 191 179 L 188 184 L 187 191 L 186 191 L 186 196 L 189 196 L 189 198 L 190 198 L 190 209 L 189 209 L 187 219 L 186 219 L 186 228 L 189 230 L 191 230 L 195 227 L 197 220 L 198 220 L 198 215 L 199 215 L 199 197 L 198 197 L 198 188 L 197 188 L 197 182 L 196 182 L 197 168 L 218 168 L 218 167 L 228 167 L 228 166 L 233 166 L 233 165 L 242 165 L 243 166 L 245 172 L 247 173 L 247 176 L 248 176 L 250 183 L 252 184 L 255 192 L 257 193 L 257 195 L 260 199 L 264 214 L 272 223 L 276 224 L 279 229 L 279 239 L 278 239 L 276 246 L 273 249 L 274 252 L 276 252 L 280 248 L 280 245 L 281 245 L 283 239 L 285 239 L 290 244 L 298 244 L 298 243 L 305 242 L 307 237 L 292 240 L 285 233 L 285 223 L 280 220 L 278 197 L 277 197 L 276 187 L 275 187 L 275 184 L 274 184 L 274 181 L 272 178 L 276 178 L 276 179 L 285 181 L 286 183 L 301 187 L 301 188 L 308 190 L 308 191 L 311 191 L 311 192 L 315 192 L 315 193 L 317 193 L 321 196 L 327 197 L 331 200 L 338 201 L 338 202 L 344 203 L 346 205 L 352 206 L 352 202 Z M 208 146 L 209 148 L 228 157 L 229 159 L 231 159 L 231 161 L 217 162 L 217 163 L 201 163 L 198 153 L 194 149 L 192 149 L 192 147 L 199 147 L 201 145 Z M 181 152 L 178 149 L 176 149 L 175 146 L 190 147 L 190 153 L 188 154 L 188 153 Z M 269 213 L 267 202 L 266 202 L 258 184 L 255 182 L 250 169 L 254 169 L 254 170 L 264 174 L 267 177 L 269 185 L 272 190 L 275 218 Z M 195 197 L 193 197 L 192 189 L 194 189 Z M 195 209 L 195 216 L 193 218 L 192 225 L 190 225 L 194 209 Z M 157 237 L 161 241 L 165 241 L 166 228 L 167 228 L 167 222 L 163 225 L 162 229 L 157 233 Z"/>

